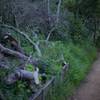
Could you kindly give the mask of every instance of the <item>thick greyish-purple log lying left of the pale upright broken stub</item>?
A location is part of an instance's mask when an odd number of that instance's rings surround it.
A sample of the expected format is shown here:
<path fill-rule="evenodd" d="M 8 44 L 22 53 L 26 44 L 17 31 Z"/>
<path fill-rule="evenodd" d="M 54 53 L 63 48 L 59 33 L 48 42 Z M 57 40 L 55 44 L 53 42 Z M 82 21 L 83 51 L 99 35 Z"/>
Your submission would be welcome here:
<path fill-rule="evenodd" d="M 9 70 L 10 68 L 5 65 L 0 63 L 0 69 L 7 69 Z M 21 69 L 20 67 L 17 67 L 14 72 L 9 73 L 7 76 L 5 76 L 5 82 L 6 84 L 14 84 L 18 80 L 34 80 L 34 72 L 30 72 L 24 69 Z"/>

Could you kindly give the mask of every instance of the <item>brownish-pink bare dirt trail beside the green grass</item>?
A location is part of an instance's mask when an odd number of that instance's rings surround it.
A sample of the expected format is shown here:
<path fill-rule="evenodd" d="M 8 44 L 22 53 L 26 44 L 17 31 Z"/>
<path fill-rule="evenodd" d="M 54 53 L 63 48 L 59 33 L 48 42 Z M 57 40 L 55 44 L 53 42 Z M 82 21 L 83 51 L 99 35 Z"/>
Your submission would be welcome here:
<path fill-rule="evenodd" d="M 87 78 L 69 100 L 100 100 L 100 53 Z"/>

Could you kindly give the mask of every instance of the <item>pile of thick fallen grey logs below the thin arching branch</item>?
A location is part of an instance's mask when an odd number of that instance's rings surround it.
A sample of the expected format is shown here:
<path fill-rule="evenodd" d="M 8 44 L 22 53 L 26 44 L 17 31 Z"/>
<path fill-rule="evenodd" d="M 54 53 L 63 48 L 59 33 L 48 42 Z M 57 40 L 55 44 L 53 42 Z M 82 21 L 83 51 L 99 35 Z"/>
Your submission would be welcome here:
<path fill-rule="evenodd" d="M 25 36 L 26 36 L 26 38 L 28 37 L 27 35 L 25 35 Z M 9 74 L 5 78 L 6 83 L 7 84 L 13 84 L 19 79 L 34 80 L 34 72 L 26 71 L 25 65 L 26 65 L 26 63 L 31 63 L 32 65 L 34 65 L 36 67 L 38 60 L 33 59 L 32 57 L 30 58 L 27 55 L 25 55 L 22 52 L 23 50 L 20 47 L 20 45 L 18 44 L 18 41 L 14 37 L 12 37 L 11 35 L 6 33 L 6 34 L 3 35 L 2 40 L 3 39 L 4 39 L 4 42 L 8 42 L 11 46 L 13 44 L 13 46 L 11 48 L 7 48 L 1 42 L 0 43 L 0 59 L 2 60 L 3 57 L 7 56 L 7 57 L 13 57 L 14 59 L 19 59 L 19 60 L 24 62 L 24 64 L 22 65 L 23 67 L 18 66 L 18 68 L 13 73 Z M 31 40 L 29 40 L 29 42 L 30 41 Z M 20 47 L 20 49 L 19 49 L 19 47 Z M 9 67 L 5 64 L 2 64 L 2 62 L 0 62 L 0 68 L 7 69 Z"/>

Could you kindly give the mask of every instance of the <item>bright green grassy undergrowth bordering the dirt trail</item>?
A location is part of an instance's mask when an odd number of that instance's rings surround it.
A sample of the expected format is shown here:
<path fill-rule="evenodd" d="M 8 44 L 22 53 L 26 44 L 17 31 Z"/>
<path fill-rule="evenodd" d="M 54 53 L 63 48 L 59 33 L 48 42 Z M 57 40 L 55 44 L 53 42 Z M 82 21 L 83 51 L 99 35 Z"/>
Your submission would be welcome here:
<path fill-rule="evenodd" d="M 89 71 L 92 62 L 96 57 L 96 49 L 90 43 L 74 45 L 73 43 L 65 44 L 62 42 L 56 42 L 52 49 L 45 49 L 45 52 L 46 59 L 50 59 L 49 57 L 52 53 L 52 72 L 55 72 L 58 76 L 58 81 L 53 89 L 53 96 L 49 97 L 47 100 L 64 100 L 72 94 L 75 87 L 77 87 L 86 76 L 86 73 Z M 59 77 L 62 54 L 64 55 L 65 61 L 70 63 L 70 68 L 65 76 L 64 82 L 60 82 Z M 52 66 L 50 68 L 52 68 Z"/>

